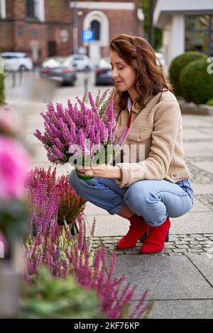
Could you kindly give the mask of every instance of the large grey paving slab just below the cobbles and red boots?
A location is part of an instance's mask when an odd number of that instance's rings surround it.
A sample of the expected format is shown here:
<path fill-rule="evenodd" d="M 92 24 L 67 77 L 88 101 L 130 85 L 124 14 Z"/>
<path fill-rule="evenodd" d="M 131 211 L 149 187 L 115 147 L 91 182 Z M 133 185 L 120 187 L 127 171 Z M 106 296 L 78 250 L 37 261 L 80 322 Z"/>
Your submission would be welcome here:
<path fill-rule="evenodd" d="M 146 290 L 146 300 L 213 298 L 212 286 L 187 256 L 118 256 L 114 277 L 123 275 L 126 282 L 137 286 L 133 300 L 139 300 Z"/>

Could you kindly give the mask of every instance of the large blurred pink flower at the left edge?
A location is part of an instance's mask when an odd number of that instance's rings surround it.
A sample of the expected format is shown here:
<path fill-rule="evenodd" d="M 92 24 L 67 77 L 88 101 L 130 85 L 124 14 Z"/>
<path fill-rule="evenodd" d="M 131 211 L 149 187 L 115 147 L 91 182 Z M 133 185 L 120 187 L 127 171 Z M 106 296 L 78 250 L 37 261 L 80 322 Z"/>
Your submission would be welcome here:
<path fill-rule="evenodd" d="M 26 150 L 16 140 L 0 136 L 0 199 L 23 195 L 30 160 Z"/>

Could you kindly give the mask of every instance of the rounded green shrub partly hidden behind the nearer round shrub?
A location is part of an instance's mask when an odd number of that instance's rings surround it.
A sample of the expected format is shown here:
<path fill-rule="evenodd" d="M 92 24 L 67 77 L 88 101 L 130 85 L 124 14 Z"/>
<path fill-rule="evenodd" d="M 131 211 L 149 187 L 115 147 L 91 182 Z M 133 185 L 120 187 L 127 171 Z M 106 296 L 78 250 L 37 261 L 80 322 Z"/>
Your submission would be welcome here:
<path fill-rule="evenodd" d="M 170 64 L 169 77 L 170 83 L 173 84 L 176 96 L 182 96 L 182 91 L 179 86 L 180 72 L 182 69 L 190 62 L 201 59 L 207 59 L 207 56 L 202 55 L 202 53 L 199 52 L 185 52 L 173 59 Z"/>

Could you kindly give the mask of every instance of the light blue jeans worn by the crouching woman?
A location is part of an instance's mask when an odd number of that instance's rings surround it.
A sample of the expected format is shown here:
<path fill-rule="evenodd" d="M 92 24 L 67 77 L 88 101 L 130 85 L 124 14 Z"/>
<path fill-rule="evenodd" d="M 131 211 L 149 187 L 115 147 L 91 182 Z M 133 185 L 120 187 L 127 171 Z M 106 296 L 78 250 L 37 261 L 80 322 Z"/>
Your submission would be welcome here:
<path fill-rule="evenodd" d="M 151 227 L 158 227 L 167 217 L 178 218 L 193 205 L 193 190 L 189 179 L 170 183 L 163 180 L 136 181 L 129 187 L 120 188 L 114 179 L 94 177 L 90 181 L 79 179 L 75 169 L 69 176 L 75 191 L 90 203 L 111 215 L 128 207 Z"/>

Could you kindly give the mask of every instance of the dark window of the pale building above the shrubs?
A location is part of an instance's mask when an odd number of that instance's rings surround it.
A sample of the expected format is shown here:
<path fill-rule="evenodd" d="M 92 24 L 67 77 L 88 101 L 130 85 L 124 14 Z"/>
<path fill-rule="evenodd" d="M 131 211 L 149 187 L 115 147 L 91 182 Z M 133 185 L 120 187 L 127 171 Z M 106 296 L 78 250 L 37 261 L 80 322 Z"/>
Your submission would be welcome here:
<path fill-rule="evenodd" d="M 213 56 L 213 16 L 185 17 L 185 50 Z"/>

